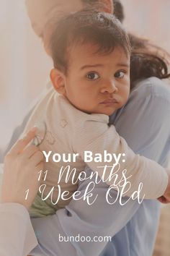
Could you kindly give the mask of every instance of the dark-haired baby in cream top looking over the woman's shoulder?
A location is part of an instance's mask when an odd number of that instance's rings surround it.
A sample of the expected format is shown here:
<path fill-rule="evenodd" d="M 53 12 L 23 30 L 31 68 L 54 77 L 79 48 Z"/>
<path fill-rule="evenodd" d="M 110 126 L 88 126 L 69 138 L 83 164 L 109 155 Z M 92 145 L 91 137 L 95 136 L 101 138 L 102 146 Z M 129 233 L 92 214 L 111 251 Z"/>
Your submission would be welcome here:
<path fill-rule="evenodd" d="M 116 155 L 125 153 L 125 161 L 120 161 L 117 171 L 117 182 L 124 169 L 126 176 L 130 176 L 131 187 L 125 195 L 130 197 L 140 182 L 146 199 L 164 195 L 168 185 L 165 169 L 135 155 L 115 127 L 109 125 L 109 116 L 125 105 L 130 93 L 130 43 L 120 22 L 110 14 L 96 11 L 70 14 L 54 30 L 50 51 L 54 63 L 50 72 L 53 88 L 37 103 L 24 132 L 37 123 L 45 126 L 45 137 L 39 145 L 45 153 L 47 170 L 42 181 L 43 197 L 51 197 L 42 201 L 39 192 L 30 209 L 31 216 L 47 216 L 67 205 L 78 187 L 77 182 L 72 182 L 73 175 L 77 179 L 86 164 L 99 177 L 104 171 L 99 166 L 114 166 L 115 161 L 106 163 L 103 158 L 85 163 L 87 150 L 102 155 L 104 150 Z M 53 153 L 76 153 L 80 157 L 55 163 Z M 76 172 L 70 171 L 68 175 L 65 170 L 61 175 L 61 166 L 67 169 L 68 165 L 71 170 L 76 168 Z M 105 177 L 109 177 L 108 170 Z M 113 184 L 112 179 L 106 182 Z M 58 194 L 64 191 L 69 192 L 68 200 L 58 200 Z"/>

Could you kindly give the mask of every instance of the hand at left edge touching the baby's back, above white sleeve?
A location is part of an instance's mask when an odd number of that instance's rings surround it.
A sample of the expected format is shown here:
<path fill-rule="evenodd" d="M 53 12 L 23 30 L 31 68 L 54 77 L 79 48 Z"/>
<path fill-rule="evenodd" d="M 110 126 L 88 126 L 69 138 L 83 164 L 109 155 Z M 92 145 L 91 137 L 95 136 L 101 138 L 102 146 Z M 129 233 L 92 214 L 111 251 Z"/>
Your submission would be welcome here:
<path fill-rule="evenodd" d="M 17 202 L 27 209 L 32 205 L 40 184 L 38 172 L 44 160 L 42 152 L 35 145 L 29 145 L 35 134 L 36 128 L 33 128 L 6 155 L 1 202 Z"/>

